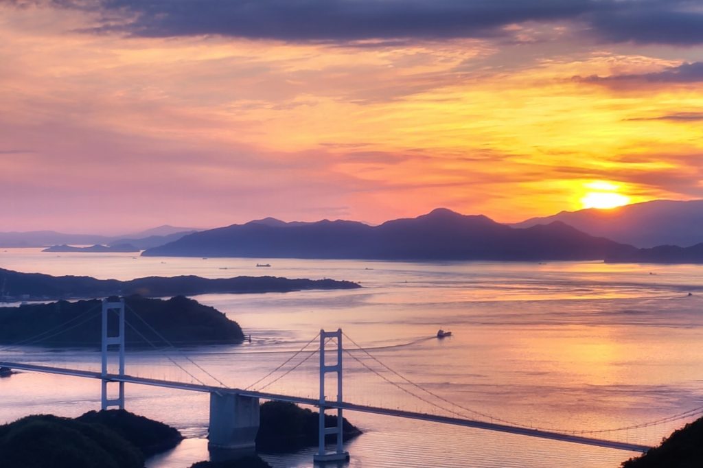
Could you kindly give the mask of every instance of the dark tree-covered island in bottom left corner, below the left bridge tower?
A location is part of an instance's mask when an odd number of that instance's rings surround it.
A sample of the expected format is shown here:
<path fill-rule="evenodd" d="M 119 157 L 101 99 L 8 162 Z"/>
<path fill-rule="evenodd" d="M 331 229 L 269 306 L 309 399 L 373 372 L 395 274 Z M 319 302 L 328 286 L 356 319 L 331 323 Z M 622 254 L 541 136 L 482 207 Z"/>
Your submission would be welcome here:
<path fill-rule="evenodd" d="M 32 415 L 0 426 L 0 464 L 143 468 L 146 457 L 175 447 L 182 438 L 166 424 L 124 410 L 91 411 L 75 419 Z"/>

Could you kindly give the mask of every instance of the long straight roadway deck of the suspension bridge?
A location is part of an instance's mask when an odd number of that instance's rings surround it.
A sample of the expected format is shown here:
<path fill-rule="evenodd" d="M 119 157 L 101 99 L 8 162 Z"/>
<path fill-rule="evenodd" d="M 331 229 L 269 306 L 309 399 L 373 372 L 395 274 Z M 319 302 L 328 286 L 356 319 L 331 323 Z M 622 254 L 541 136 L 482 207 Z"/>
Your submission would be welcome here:
<path fill-rule="evenodd" d="M 36 364 L 21 364 L 9 363 L 0 361 L 0 367 L 6 367 L 16 370 L 28 370 L 32 372 L 45 372 L 49 374 L 70 375 L 73 377 L 87 377 L 89 379 L 103 379 L 100 372 L 89 370 L 53 368 L 46 365 Z M 288 401 L 300 405 L 319 406 L 319 401 L 315 398 L 303 398 L 299 396 L 269 394 L 262 391 L 251 391 L 241 389 L 230 389 L 221 386 L 209 386 L 202 384 L 188 384 L 183 382 L 172 382 L 168 380 L 148 379 L 146 377 L 132 377 L 130 375 L 108 374 L 105 378 L 110 382 L 125 382 L 128 384 L 161 386 L 168 389 L 179 389 L 188 391 L 201 391 L 205 393 L 231 393 L 242 396 L 251 396 L 262 398 L 264 400 Z M 430 422 L 439 422 L 441 424 L 453 424 L 455 426 L 474 427 L 476 429 L 486 429 L 488 431 L 506 432 L 508 434 L 520 434 L 522 436 L 548 438 L 553 441 L 563 441 L 580 443 L 588 446 L 597 446 L 605 448 L 614 448 L 617 450 L 627 450 L 628 452 L 646 452 L 650 449 L 648 446 L 641 446 L 635 443 L 623 443 L 617 441 L 607 441 L 600 438 L 577 436 L 576 434 L 561 434 L 559 432 L 542 431 L 540 429 L 529 429 L 526 427 L 514 427 L 507 424 L 496 424 L 494 422 L 483 422 L 475 420 L 465 420 L 458 417 L 447 417 L 438 415 L 429 415 L 422 412 L 412 412 L 404 410 L 391 410 L 388 408 L 378 408 L 368 405 L 356 405 L 355 403 L 336 403 L 333 401 L 325 402 L 325 408 L 342 408 L 342 410 L 370 412 L 377 415 L 387 415 L 395 417 L 404 417 L 411 420 L 421 420 Z"/>

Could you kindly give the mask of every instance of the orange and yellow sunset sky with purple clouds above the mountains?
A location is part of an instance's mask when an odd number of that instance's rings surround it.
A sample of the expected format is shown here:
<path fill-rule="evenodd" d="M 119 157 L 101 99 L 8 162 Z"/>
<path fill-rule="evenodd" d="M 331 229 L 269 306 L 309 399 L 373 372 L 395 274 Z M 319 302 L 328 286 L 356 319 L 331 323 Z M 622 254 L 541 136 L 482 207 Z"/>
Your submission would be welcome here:
<path fill-rule="evenodd" d="M 0 231 L 703 198 L 703 3 L 0 0 Z"/>

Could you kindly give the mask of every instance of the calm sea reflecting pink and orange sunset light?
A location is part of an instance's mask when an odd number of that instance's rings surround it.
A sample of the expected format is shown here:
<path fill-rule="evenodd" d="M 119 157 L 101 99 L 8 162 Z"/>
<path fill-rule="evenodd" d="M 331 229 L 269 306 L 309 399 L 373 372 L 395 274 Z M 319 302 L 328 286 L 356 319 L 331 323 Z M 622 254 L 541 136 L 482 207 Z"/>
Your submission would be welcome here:
<path fill-rule="evenodd" d="M 254 384 L 318 398 L 315 337 L 341 328 L 344 399 L 352 403 L 645 445 L 695 420 L 703 407 L 703 266 L 0 249 L 0 267 L 120 280 L 275 275 L 362 286 L 196 296 L 236 320 L 251 342 L 127 349 L 131 375 L 236 388 Z M 437 339 L 439 329 L 451 330 L 451 337 Z M 100 353 L 92 349 L 0 346 L 0 360 L 100 368 Z M 148 460 L 148 468 L 187 468 L 208 459 L 207 394 L 127 384 L 126 398 L 127 410 L 186 436 L 174 450 Z M 99 405 L 98 381 L 32 372 L 0 379 L 0 423 L 40 413 L 75 417 Z M 617 468 L 638 455 L 361 412 L 345 417 L 363 431 L 344 445 L 351 459 L 340 466 L 350 468 Z M 304 468 L 313 467 L 314 450 L 261 455 L 276 468 Z"/>

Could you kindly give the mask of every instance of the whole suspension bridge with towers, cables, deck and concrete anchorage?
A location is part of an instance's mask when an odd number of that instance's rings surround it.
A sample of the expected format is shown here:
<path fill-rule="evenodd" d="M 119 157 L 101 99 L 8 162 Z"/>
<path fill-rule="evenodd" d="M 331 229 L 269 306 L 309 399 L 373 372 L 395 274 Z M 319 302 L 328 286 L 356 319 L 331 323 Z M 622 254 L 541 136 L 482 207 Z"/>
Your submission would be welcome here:
<path fill-rule="evenodd" d="M 129 308 L 129 306 L 127 306 Z M 141 335 L 155 349 L 159 347 L 138 331 L 137 327 L 125 320 L 125 303 L 124 299 L 117 302 L 103 301 L 101 307 L 102 313 L 102 349 L 101 349 L 101 370 L 82 370 L 77 368 L 63 368 L 53 365 L 40 365 L 37 363 L 22 363 L 10 360 L 0 360 L 0 367 L 11 368 L 13 370 L 24 370 L 27 372 L 44 372 L 56 375 L 67 375 L 72 377 L 82 377 L 86 379 L 96 379 L 102 383 L 102 398 L 101 408 L 124 408 L 124 384 L 137 384 L 146 386 L 157 386 L 167 389 L 178 389 L 183 391 L 196 391 L 207 393 L 210 396 L 209 408 L 209 446 L 213 448 L 231 448 L 231 449 L 250 449 L 254 447 L 254 438 L 259 427 L 259 401 L 285 401 L 296 403 L 299 405 L 309 405 L 319 408 L 319 439 L 318 451 L 314 458 L 318 462 L 345 460 L 349 454 L 344 451 L 342 441 L 342 414 L 344 411 L 373 413 L 377 415 L 387 415 L 390 417 L 402 417 L 411 420 L 420 420 L 427 422 L 435 422 L 439 424 L 451 424 L 454 426 L 471 427 L 475 429 L 484 429 L 488 431 L 498 431 L 508 434 L 518 434 L 522 436 L 530 436 L 536 438 L 550 439 L 553 441 L 564 441 L 569 443 L 585 444 L 588 446 L 598 446 L 603 448 L 611 448 L 617 450 L 627 450 L 631 452 L 645 452 L 650 446 L 642 443 L 630 443 L 628 441 L 617 441 L 606 438 L 605 434 L 617 434 L 622 431 L 633 429 L 641 429 L 645 427 L 653 427 L 659 424 L 678 422 L 681 420 L 690 419 L 697 415 L 703 414 L 703 407 L 694 408 L 686 412 L 681 412 L 670 417 L 659 418 L 658 420 L 645 422 L 641 424 L 633 424 L 626 427 L 614 427 L 609 429 L 596 430 L 560 430 L 547 427 L 531 427 L 527 424 L 519 424 L 505 420 L 495 415 L 489 415 L 478 410 L 467 408 L 465 405 L 456 403 L 450 398 L 446 398 L 436 391 L 427 389 L 426 386 L 417 384 L 411 379 L 408 379 L 400 372 L 389 367 L 373 355 L 368 349 L 363 348 L 354 341 L 342 330 L 328 332 L 321 330 L 316 336 L 305 344 L 301 349 L 292 353 L 288 359 L 276 366 L 268 372 L 264 377 L 257 380 L 250 386 L 237 388 L 236 386 L 228 386 L 221 379 L 215 377 L 211 372 L 205 370 L 195 360 L 189 357 L 186 353 L 178 350 L 176 346 L 168 343 L 157 330 L 154 330 L 146 320 L 138 316 L 136 312 L 130 308 L 130 311 L 135 314 L 138 320 L 141 320 L 147 327 L 150 328 L 157 336 L 161 337 L 168 345 L 169 349 L 176 350 L 183 359 L 194 365 L 195 368 L 205 373 L 217 382 L 217 384 L 206 384 L 202 379 L 188 371 L 181 363 L 172 356 L 167 356 L 169 361 L 177 368 L 186 372 L 191 377 L 191 382 L 181 382 L 170 379 L 157 379 L 153 377 L 144 377 L 138 375 L 130 375 L 126 372 L 125 367 L 125 343 L 124 331 L 125 326 L 131 327 L 132 330 Z M 7 346 L 0 349 L 0 353 L 17 349 L 18 346 L 27 346 L 36 344 L 42 340 L 60 334 L 64 330 L 69 330 L 79 326 L 88 320 L 89 312 L 82 316 L 72 318 L 67 323 L 55 327 L 51 330 L 46 330 L 36 337 L 22 340 L 12 346 Z M 97 311 L 95 311 L 97 313 Z M 115 314 L 118 320 L 118 332 L 114 336 L 108 334 L 108 318 L 110 314 Z M 86 317 L 88 318 L 86 318 Z M 343 346 L 349 342 L 351 346 Z M 330 344 L 333 346 L 330 349 Z M 163 351 L 163 350 L 160 350 Z M 115 356 L 116 355 L 116 356 Z M 293 394 L 276 393 L 273 391 L 265 391 L 274 382 L 282 379 L 286 375 L 298 369 L 300 366 L 307 363 L 313 356 L 318 355 L 318 379 L 319 379 L 319 394 L 315 397 L 299 396 Z M 332 356 L 334 363 L 328 363 L 328 356 Z M 359 356 L 363 356 L 360 358 Z M 110 365 L 110 358 L 117 357 L 117 365 Z M 377 376 L 383 384 L 392 386 L 409 398 L 416 398 L 418 401 L 425 403 L 426 408 L 431 410 L 411 411 L 401 408 L 387 408 L 383 405 L 369 405 L 355 403 L 344 399 L 344 360 L 351 359 L 361 365 L 361 368 L 370 374 Z M 328 374 L 333 374 L 333 377 L 328 377 Z M 263 384 L 268 380 L 266 384 Z M 327 384 L 336 384 L 335 398 L 328 398 L 326 394 L 330 392 Z M 259 385 L 261 384 L 261 385 Z M 259 385 L 257 387 L 257 385 Z M 116 398 L 110 398 L 111 393 L 108 389 L 117 386 Z M 337 424 L 335 427 L 325 426 L 325 410 L 335 411 L 337 414 Z M 327 436 L 335 439 L 333 450 L 328 451 L 326 443 Z"/>

